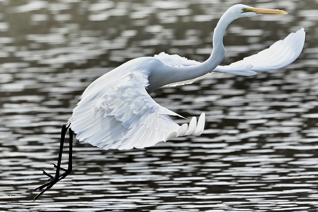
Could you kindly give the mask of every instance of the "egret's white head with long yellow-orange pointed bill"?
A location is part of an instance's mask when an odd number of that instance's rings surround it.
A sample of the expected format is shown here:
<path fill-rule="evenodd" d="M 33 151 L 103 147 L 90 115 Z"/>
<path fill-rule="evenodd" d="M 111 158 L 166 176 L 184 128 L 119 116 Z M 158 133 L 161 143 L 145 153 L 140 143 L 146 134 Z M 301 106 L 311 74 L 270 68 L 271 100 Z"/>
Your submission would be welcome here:
<path fill-rule="evenodd" d="M 246 6 L 244 4 L 236 4 L 230 7 L 228 10 L 236 18 L 251 17 L 251 16 L 256 16 L 261 14 L 284 15 L 288 13 L 283 10 L 254 8 L 254 7 Z"/>

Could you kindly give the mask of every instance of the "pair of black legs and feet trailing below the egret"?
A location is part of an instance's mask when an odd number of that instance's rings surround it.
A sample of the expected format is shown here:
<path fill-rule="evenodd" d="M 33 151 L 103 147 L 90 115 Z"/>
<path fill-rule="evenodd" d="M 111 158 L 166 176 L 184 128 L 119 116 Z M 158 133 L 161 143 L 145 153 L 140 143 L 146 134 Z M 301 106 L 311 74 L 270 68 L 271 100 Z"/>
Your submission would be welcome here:
<path fill-rule="evenodd" d="M 61 168 L 61 161 L 62 161 L 62 153 L 63 153 L 63 147 L 64 147 L 64 140 L 65 140 L 65 134 L 67 132 L 67 129 L 70 133 L 70 140 L 69 140 L 69 155 L 68 155 L 68 168 Z M 61 130 L 61 141 L 60 141 L 60 147 L 59 147 L 59 157 L 57 165 L 53 164 L 54 168 L 56 168 L 55 176 L 52 176 L 51 174 L 46 173 L 44 170 L 43 174 L 48 176 L 50 179 L 47 180 L 47 182 L 38 188 L 35 188 L 33 191 L 41 191 L 36 197 L 34 197 L 34 201 L 38 199 L 39 196 L 41 196 L 45 191 L 52 188 L 53 185 L 55 185 L 58 181 L 64 179 L 68 174 L 72 172 L 72 153 L 73 153 L 73 130 L 71 128 L 66 127 L 64 124 L 62 126 Z M 62 174 L 60 174 L 60 170 L 64 171 Z"/>

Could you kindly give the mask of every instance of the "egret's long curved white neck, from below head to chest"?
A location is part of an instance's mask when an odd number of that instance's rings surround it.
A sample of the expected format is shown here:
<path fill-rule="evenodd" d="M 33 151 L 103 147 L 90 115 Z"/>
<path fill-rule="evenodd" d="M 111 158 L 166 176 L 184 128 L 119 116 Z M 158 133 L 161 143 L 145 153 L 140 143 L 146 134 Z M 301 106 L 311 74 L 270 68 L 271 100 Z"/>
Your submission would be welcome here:
<path fill-rule="evenodd" d="M 235 20 L 232 14 L 226 11 L 220 18 L 217 26 L 214 29 L 213 35 L 213 51 L 210 57 L 199 65 L 192 66 L 170 66 L 156 67 L 156 70 L 151 72 L 148 80 L 148 93 L 153 92 L 157 88 L 168 85 L 170 83 L 181 82 L 185 80 L 195 79 L 204 74 L 213 71 L 223 60 L 225 48 L 223 45 L 223 36 L 228 25 Z M 161 79 L 161 80 L 158 80 Z"/>

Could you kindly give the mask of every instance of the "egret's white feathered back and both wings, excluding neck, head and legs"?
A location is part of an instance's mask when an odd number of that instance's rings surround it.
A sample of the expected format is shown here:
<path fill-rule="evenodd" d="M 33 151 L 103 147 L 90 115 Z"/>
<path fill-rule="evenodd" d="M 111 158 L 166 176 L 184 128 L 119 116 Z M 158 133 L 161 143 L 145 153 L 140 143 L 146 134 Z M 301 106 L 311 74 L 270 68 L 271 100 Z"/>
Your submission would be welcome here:
<path fill-rule="evenodd" d="M 305 32 L 301 28 L 258 54 L 230 65 L 218 65 L 212 72 L 198 78 L 166 86 L 191 84 L 213 72 L 253 75 L 255 71 L 279 69 L 298 58 L 304 41 Z M 200 64 L 164 52 L 154 58 L 131 60 L 87 87 L 73 110 L 70 127 L 77 133 L 77 139 L 103 149 L 144 148 L 177 136 L 200 135 L 204 129 L 204 113 L 198 123 L 193 117 L 189 125 L 179 126 L 169 115 L 182 116 L 160 106 L 147 93 L 151 70 L 164 68 L 165 65 L 181 67 Z"/>

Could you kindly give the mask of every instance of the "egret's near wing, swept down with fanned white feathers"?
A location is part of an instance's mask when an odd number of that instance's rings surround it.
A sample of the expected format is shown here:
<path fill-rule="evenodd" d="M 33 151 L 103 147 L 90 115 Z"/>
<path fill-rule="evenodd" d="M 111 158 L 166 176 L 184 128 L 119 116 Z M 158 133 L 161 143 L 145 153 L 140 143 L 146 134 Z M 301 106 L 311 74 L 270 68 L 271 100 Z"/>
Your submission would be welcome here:
<path fill-rule="evenodd" d="M 70 127 L 80 141 L 103 149 L 132 149 L 187 134 L 199 135 L 204 114 L 179 126 L 168 115 L 180 116 L 157 104 L 147 93 L 143 74 L 117 76 L 109 72 L 95 80 L 73 109 Z"/>

